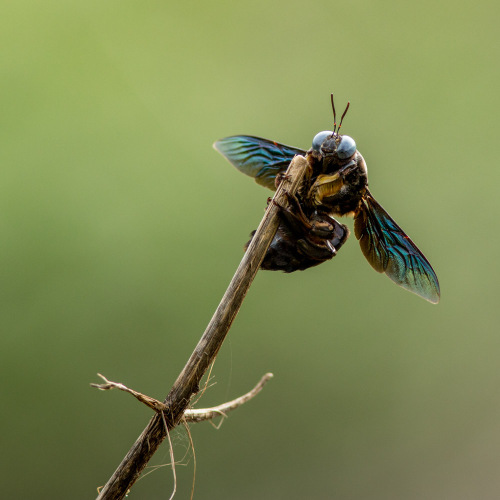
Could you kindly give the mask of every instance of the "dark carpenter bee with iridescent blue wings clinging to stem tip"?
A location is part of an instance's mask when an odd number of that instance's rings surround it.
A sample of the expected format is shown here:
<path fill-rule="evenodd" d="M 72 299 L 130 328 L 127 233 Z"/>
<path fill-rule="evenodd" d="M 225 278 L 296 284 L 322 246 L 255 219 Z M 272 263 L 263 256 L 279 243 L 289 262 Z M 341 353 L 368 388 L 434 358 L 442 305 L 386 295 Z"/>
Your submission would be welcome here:
<path fill-rule="evenodd" d="M 349 103 L 338 126 L 333 94 L 331 103 L 333 130 L 316 134 L 308 151 L 248 135 L 214 144 L 239 171 L 273 190 L 295 155 L 308 161 L 297 195 L 289 195 L 288 207 L 280 207 L 281 222 L 261 267 L 293 272 L 331 259 L 349 235 L 334 216 L 351 215 L 371 266 L 406 290 L 438 303 L 439 281 L 431 264 L 375 200 L 368 189 L 366 162 L 354 139 L 340 134 Z"/>

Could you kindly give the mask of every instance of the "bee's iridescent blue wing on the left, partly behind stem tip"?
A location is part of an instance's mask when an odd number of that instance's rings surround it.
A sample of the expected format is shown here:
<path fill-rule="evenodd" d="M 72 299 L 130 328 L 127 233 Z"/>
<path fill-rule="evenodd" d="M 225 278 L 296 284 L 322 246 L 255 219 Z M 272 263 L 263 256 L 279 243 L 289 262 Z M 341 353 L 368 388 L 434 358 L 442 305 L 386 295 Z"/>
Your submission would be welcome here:
<path fill-rule="evenodd" d="M 305 154 L 303 149 L 251 135 L 233 135 L 219 139 L 214 143 L 214 148 L 240 172 L 273 191 L 276 190 L 276 175 L 285 172 L 295 155 Z"/>

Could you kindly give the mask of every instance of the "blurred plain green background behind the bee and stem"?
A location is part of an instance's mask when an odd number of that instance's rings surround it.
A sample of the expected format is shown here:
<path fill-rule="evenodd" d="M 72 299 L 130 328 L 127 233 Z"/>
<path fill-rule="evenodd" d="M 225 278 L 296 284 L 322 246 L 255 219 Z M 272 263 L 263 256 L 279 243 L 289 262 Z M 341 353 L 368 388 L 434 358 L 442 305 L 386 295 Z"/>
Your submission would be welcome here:
<path fill-rule="evenodd" d="M 259 273 L 192 426 L 202 499 L 500 495 L 497 2 L 20 0 L 0 20 L 3 498 L 92 498 L 201 336 L 270 192 L 213 149 L 343 130 L 433 306 L 329 263 Z M 352 227 L 352 223 L 349 222 Z M 177 498 L 193 454 L 173 435 Z M 186 454 L 187 453 L 187 454 Z M 172 491 L 168 447 L 129 498 Z"/>

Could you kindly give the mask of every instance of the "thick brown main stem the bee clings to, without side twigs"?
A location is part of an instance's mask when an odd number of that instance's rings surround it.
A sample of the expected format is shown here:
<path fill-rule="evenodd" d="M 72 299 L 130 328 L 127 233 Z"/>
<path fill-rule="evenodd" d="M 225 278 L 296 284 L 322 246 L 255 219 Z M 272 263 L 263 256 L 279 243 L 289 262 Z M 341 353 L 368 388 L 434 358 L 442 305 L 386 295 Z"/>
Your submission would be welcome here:
<path fill-rule="evenodd" d="M 278 205 L 287 205 L 286 192 L 295 194 L 307 168 L 308 162 L 303 156 L 292 160 L 273 197 Z M 205 333 L 164 401 L 168 408 L 162 414 L 169 430 L 180 422 L 191 397 L 198 392 L 200 381 L 217 356 L 278 225 L 278 207 L 270 203 Z M 98 500 L 124 498 L 165 439 L 165 433 L 162 417 L 156 414 L 102 488 Z"/>

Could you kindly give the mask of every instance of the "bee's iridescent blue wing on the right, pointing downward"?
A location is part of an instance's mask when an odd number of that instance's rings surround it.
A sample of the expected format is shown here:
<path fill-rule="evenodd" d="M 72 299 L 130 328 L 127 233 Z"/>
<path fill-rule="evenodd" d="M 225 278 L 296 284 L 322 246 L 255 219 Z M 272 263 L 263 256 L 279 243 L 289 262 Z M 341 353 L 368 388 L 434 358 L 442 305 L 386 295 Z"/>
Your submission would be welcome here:
<path fill-rule="evenodd" d="M 433 304 L 439 302 L 439 281 L 429 261 L 369 192 L 361 200 L 354 232 L 375 271 Z"/>

